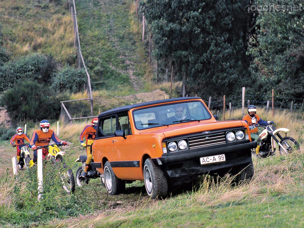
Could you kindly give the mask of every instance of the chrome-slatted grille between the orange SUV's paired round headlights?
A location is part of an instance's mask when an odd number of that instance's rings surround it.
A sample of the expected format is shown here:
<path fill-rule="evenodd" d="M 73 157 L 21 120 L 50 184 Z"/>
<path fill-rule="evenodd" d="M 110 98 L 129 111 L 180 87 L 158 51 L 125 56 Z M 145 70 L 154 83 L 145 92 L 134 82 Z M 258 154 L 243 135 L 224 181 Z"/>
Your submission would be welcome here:
<path fill-rule="evenodd" d="M 189 138 L 189 149 L 226 143 L 225 132 Z"/>

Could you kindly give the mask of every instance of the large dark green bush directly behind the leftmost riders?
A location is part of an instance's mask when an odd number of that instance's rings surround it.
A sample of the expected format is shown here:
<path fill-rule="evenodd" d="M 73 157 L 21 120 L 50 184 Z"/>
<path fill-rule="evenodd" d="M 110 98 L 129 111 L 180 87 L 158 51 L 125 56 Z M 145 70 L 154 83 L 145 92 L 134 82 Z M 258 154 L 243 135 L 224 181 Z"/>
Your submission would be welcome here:
<path fill-rule="evenodd" d="M 50 87 L 33 81 L 18 82 L 3 93 L 0 104 L 14 121 L 55 119 L 60 115 L 59 99 Z"/>

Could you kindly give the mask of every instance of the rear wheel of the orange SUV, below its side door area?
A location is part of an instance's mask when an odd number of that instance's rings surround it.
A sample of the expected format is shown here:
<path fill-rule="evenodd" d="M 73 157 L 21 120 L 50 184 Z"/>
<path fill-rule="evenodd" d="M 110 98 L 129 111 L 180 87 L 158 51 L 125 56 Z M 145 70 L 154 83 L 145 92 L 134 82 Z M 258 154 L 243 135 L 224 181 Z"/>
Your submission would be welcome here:
<path fill-rule="evenodd" d="M 123 193 L 126 189 L 126 181 L 120 180 L 116 177 L 109 161 L 105 162 L 103 174 L 105 178 L 105 188 L 108 190 L 109 195 L 118 195 Z"/>

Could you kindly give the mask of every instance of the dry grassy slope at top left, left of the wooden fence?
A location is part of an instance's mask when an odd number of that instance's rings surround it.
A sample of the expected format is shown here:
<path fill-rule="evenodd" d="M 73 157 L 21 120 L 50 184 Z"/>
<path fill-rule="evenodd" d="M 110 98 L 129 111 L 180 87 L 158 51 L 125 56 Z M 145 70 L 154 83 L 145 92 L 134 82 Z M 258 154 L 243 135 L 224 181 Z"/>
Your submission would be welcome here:
<path fill-rule="evenodd" d="M 66 1 L 0 1 L 0 31 L 11 58 L 39 52 L 74 63 L 73 23 Z"/>

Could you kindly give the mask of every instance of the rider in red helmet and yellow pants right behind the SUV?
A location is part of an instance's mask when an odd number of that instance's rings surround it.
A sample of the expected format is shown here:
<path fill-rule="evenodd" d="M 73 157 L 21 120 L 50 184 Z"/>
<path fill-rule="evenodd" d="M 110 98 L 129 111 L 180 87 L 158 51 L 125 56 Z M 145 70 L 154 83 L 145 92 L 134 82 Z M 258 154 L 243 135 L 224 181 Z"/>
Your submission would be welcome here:
<path fill-rule="evenodd" d="M 96 137 L 96 128 L 97 128 L 98 118 L 92 119 L 91 125 L 86 125 L 82 130 L 79 140 L 82 147 L 86 147 L 87 145 L 92 145 L 94 143 Z M 86 142 L 83 142 L 83 138 L 85 137 Z M 91 154 L 91 148 L 87 147 L 87 161 L 85 161 L 85 171 L 81 174 L 82 177 L 86 177 L 88 173 L 88 168 L 92 161 L 93 155 Z"/>

